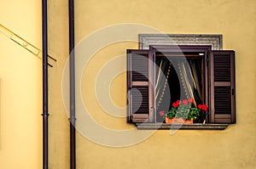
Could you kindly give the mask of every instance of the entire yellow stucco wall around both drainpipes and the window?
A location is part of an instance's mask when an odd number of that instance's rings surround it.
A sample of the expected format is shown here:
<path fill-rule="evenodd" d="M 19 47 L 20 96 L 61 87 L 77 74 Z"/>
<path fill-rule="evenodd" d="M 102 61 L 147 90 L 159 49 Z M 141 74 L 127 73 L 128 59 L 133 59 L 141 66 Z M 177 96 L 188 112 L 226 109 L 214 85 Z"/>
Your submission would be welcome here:
<path fill-rule="evenodd" d="M 26 1 L 3 3 L 0 10 L 1 24 L 39 48 L 41 2 Z M 68 57 L 67 9 L 67 1 L 49 0 L 49 55 L 57 59 L 54 67 L 49 68 L 49 168 L 61 169 L 69 168 L 69 123 L 61 93 L 61 80 Z M 237 108 L 236 124 L 224 131 L 183 130 L 174 135 L 170 135 L 168 130 L 157 131 L 145 141 L 123 148 L 96 144 L 77 132 L 77 168 L 254 169 L 255 21 L 256 3 L 253 0 L 75 1 L 76 44 L 93 31 L 122 23 L 148 25 L 166 34 L 223 34 L 224 49 L 236 51 Z M 7 37 L 0 36 L 0 167 L 40 168 L 41 118 L 38 114 L 42 111 L 41 60 Z M 115 130 L 133 126 L 126 124 L 125 118 L 107 115 L 102 110 L 96 102 L 95 81 L 102 66 L 116 56 L 125 54 L 126 48 L 137 48 L 137 43 L 116 42 L 101 48 L 93 55 L 81 81 L 81 93 L 91 116 L 102 126 Z M 26 61 L 21 59 L 23 56 Z M 117 66 L 123 68 L 125 62 L 120 61 Z M 21 83 L 22 77 L 26 79 L 24 83 Z M 35 81 L 31 80 L 33 78 Z M 125 106 L 125 83 L 125 73 L 122 73 L 113 80 L 110 87 L 113 102 L 119 106 Z M 30 89 L 29 93 L 26 93 L 26 88 Z M 26 121 L 26 125 L 21 120 Z M 26 150 L 27 147 L 29 149 Z"/>

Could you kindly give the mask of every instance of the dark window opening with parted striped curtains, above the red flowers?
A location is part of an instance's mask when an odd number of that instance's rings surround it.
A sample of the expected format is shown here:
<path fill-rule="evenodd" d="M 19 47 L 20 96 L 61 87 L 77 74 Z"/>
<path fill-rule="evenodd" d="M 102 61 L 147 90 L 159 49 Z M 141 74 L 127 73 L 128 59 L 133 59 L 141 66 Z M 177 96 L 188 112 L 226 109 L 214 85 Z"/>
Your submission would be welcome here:
<path fill-rule="evenodd" d="M 202 57 L 157 55 L 155 58 L 155 109 L 171 110 L 178 99 L 203 103 Z M 158 113 L 156 113 L 158 115 Z M 160 121 L 161 117 L 157 117 Z"/>

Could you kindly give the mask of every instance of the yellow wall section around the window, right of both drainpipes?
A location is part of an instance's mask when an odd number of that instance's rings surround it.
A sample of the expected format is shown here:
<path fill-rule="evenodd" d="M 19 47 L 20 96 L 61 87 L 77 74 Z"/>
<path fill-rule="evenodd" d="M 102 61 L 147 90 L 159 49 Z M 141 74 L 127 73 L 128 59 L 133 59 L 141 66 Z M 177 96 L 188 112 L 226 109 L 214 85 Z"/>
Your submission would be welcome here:
<path fill-rule="evenodd" d="M 256 167 L 255 1 L 76 1 L 75 7 L 78 45 L 93 31 L 120 23 L 149 25 L 166 34 L 223 34 L 224 49 L 236 51 L 237 98 L 237 123 L 224 131 L 185 130 L 174 135 L 170 135 L 169 131 L 157 131 L 139 144 L 113 148 L 84 138 L 81 129 L 82 134 L 78 132 L 77 136 L 78 168 Z M 131 36 L 133 34 L 131 32 Z M 102 36 L 104 38 L 111 37 Z M 110 60 L 125 54 L 126 48 L 137 48 L 137 43 L 115 42 L 99 48 L 84 68 L 81 80 L 81 93 L 90 115 L 102 127 L 118 131 L 132 126 L 125 124 L 125 118 L 114 117 L 117 112 L 107 113 L 108 109 L 103 110 L 99 105 L 95 92 L 99 77 L 96 76 L 110 64 Z M 118 63 L 112 69 L 125 67 L 125 60 Z M 105 80 L 108 82 L 108 77 Z M 123 107 L 126 103 L 125 84 L 125 73 L 122 73 L 113 78 L 110 86 L 113 103 Z M 101 137 L 100 133 L 96 135 Z M 131 138 L 127 136 L 123 139 Z"/>

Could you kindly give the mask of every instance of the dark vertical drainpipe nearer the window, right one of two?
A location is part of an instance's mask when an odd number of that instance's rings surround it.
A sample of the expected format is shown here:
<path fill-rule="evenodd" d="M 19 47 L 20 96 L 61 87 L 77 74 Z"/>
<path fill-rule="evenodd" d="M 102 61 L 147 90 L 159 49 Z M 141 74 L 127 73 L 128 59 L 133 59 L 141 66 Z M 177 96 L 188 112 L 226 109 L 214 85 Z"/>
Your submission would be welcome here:
<path fill-rule="evenodd" d="M 75 63 L 73 0 L 69 0 L 70 168 L 76 168 Z"/>

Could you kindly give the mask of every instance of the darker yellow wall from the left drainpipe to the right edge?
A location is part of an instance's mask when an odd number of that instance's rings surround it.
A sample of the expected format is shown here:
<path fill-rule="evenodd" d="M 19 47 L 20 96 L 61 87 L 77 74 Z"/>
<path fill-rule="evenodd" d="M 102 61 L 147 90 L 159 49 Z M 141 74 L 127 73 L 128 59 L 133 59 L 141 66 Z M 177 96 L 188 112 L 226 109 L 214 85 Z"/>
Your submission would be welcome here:
<path fill-rule="evenodd" d="M 68 58 L 67 2 L 49 1 L 49 51 L 57 59 L 49 70 L 49 166 L 50 168 L 69 167 L 69 136 L 67 113 L 62 101 L 61 78 Z M 256 167 L 256 106 L 255 106 L 255 46 L 256 46 L 256 2 L 232 0 L 208 1 L 75 1 L 75 40 L 77 48 L 82 47 L 79 56 L 96 48 L 88 65 L 82 67 L 79 93 L 90 116 L 103 129 L 113 131 L 133 129 L 125 123 L 123 110 L 113 112 L 102 107 L 101 97 L 125 108 L 125 56 L 126 48 L 138 48 L 137 42 L 116 42 L 113 34 L 102 34 L 102 38 L 90 39 L 89 47 L 83 46 L 98 29 L 123 23 L 148 25 L 170 34 L 222 34 L 224 49 L 236 51 L 236 108 L 237 122 L 224 131 L 183 130 L 170 134 L 170 131 L 156 131 L 141 142 L 124 147 L 102 145 L 108 140 L 102 131 L 94 131 L 90 126 L 83 128 L 86 121 L 78 117 L 77 168 L 252 168 Z M 127 28 L 127 27 L 126 27 Z M 117 34 L 124 30 L 115 30 Z M 151 31 L 134 32 L 152 33 Z M 135 35 L 136 34 L 136 35 Z M 126 36 L 126 35 L 125 35 Z M 122 37 L 125 39 L 125 36 Z M 102 45 L 106 39 L 112 44 Z M 86 43 L 85 43 L 86 44 Z M 90 48 L 91 47 L 91 48 Z M 84 49 L 83 49 L 84 48 Z M 115 65 L 108 67 L 112 61 Z M 79 65 L 79 63 L 77 63 Z M 108 69 L 107 69 L 108 68 Z M 105 95 L 96 98 L 96 82 L 102 71 L 117 70 L 112 76 Z M 108 76 L 102 76 L 108 82 Z M 102 83 L 103 84 L 103 83 Z M 65 97 L 65 96 L 64 96 Z M 79 110 L 77 110 L 79 111 Z M 79 113 L 79 112 L 78 112 Z M 81 122 L 82 121 L 82 122 Z M 83 123 L 84 121 L 84 123 Z M 86 125 L 85 125 L 86 126 Z M 96 138 L 84 137 L 86 130 L 94 131 Z M 102 129 L 102 130 L 103 130 Z M 85 131 L 85 132 L 84 132 Z M 136 132 L 143 135 L 148 131 Z M 102 135 L 103 134 L 103 135 Z M 112 137 L 109 135 L 109 137 Z M 133 138 L 134 137 L 134 138 Z M 99 138 L 99 140 L 96 140 Z M 124 135 L 120 140 L 134 139 L 135 135 Z M 113 142 L 118 139 L 113 139 Z M 112 144 L 113 144 L 112 142 Z M 118 141 L 117 141 L 118 142 Z"/>

